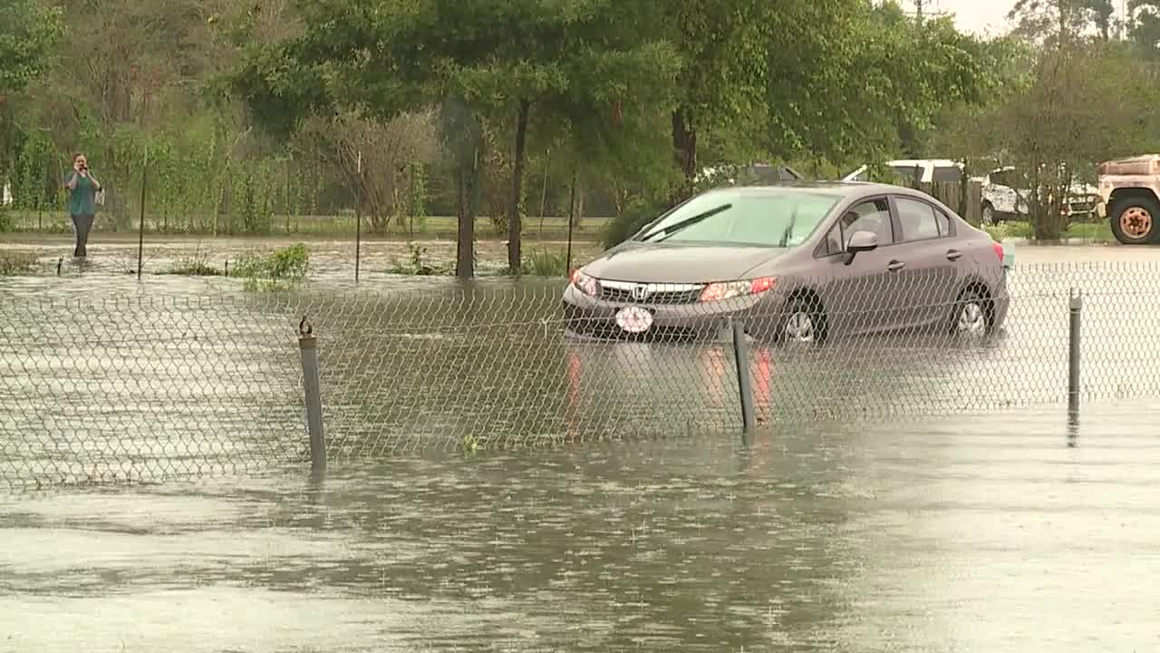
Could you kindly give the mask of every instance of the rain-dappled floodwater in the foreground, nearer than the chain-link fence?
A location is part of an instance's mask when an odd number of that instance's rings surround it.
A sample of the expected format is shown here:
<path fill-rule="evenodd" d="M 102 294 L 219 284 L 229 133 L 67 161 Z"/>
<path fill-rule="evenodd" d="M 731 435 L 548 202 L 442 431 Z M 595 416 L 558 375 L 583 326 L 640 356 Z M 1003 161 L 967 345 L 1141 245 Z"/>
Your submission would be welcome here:
<path fill-rule="evenodd" d="M 1160 414 L 0 500 L 3 651 L 1151 651 Z"/>

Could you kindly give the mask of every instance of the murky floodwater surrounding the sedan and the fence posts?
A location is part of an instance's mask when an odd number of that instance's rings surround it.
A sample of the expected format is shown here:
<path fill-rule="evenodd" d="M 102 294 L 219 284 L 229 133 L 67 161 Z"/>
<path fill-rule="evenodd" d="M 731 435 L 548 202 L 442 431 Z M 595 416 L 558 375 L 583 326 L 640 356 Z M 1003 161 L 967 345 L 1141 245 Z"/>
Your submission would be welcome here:
<path fill-rule="evenodd" d="M 0 280 L 0 651 L 1160 646 L 1154 261 L 1016 268 L 983 343 L 755 343 L 742 437 L 730 343 L 573 342 L 563 280 L 369 260 Z"/>

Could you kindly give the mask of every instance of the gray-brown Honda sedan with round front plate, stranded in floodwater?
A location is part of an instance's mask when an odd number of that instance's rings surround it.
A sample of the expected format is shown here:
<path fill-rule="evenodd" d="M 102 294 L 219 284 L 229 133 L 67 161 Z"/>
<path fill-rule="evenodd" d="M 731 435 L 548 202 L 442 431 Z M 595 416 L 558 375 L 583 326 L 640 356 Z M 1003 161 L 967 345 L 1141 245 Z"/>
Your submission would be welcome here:
<path fill-rule="evenodd" d="M 652 221 L 572 274 L 570 332 L 696 337 L 740 320 L 754 337 L 935 329 L 984 335 L 1007 314 L 1002 245 L 899 186 L 719 188 Z"/>

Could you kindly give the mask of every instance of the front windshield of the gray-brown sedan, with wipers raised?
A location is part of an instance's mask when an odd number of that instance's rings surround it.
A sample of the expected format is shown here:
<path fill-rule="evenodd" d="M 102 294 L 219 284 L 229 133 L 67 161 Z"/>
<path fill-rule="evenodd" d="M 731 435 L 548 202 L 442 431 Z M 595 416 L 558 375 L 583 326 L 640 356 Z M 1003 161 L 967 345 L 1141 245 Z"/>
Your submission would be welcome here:
<path fill-rule="evenodd" d="M 796 188 L 705 193 L 650 224 L 633 239 L 792 247 L 813 234 L 838 199 Z"/>

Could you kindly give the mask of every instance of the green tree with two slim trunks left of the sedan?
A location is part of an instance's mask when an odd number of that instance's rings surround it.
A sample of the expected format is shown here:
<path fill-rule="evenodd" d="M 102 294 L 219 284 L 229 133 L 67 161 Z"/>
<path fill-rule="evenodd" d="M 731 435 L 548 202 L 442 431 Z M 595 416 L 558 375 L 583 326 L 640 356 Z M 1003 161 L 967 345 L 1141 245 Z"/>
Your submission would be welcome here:
<path fill-rule="evenodd" d="M 312 114 L 349 108 L 390 120 L 442 105 L 451 158 L 467 166 L 455 174 L 464 221 L 473 217 L 471 198 L 478 191 L 477 127 L 509 120 L 508 263 L 514 271 L 520 270 L 519 200 L 534 108 L 611 103 L 632 82 L 641 87 L 633 93 L 645 96 L 645 82 L 658 72 L 664 80 L 664 63 L 672 57 L 665 44 L 631 31 L 640 24 L 630 20 L 639 17 L 632 3 L 610 0 L 305 0 L 300 9 L 304 33 L 248 49 L 233 78 L 253 115 L 270 129 L 290 131 Z M 461 246 L 470 246 L 470 229 L 461 224 Z M 466 260 L 461 257 L 461 275 L 470 274 Z"/>

